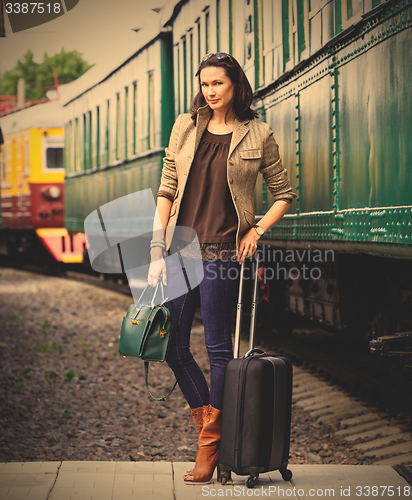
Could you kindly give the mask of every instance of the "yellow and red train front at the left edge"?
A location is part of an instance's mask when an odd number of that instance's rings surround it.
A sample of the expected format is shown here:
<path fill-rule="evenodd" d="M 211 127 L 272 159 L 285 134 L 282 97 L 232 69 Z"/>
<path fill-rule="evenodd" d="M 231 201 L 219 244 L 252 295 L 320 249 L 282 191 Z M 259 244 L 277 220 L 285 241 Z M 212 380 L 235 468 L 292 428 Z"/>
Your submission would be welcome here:
<path fill-rule="evenodd" d="M 83 261 L 84 235 L 64 227 L 63 111 L 47 102 L 1 118 L 0 252 Z"/>

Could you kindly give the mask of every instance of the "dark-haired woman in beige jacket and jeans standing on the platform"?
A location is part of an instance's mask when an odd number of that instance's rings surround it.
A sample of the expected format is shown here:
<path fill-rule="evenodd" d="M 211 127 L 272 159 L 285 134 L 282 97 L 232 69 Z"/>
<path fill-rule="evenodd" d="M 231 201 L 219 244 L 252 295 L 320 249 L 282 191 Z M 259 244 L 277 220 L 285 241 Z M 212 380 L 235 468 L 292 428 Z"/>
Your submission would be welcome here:
<path fill-rule="evenodd" d="M 219 459 L 224 372 L 233 357 L 231 320 L 237 290 L 233 268 L 238 276 L 240 264 L 254 254 L 259 238 L 282 218 L 296 195 L 270 126 L 255 120 L 252 89 L 234 57 L 208 54 L 196 76 L 200 90 L 193 112 L 177 118 L 166 149 L 157 210 L 163 228 L 193 228 L 200 243 L 204 278 L 197 288 L 173 300 L 179 338 L 175 325 L 167 361 L 199 430 L 196 464 L 184 481 L 207 484 Z M 253 195 L 259 171 L 275 202 L 257 225 Z M 162 257 L 164 247 L 162 240 L 152 240 L 151 286 L 160 276 L 165 285 L 174 280 Z M 210 389 L 190 353 L 199 294 Z"/>

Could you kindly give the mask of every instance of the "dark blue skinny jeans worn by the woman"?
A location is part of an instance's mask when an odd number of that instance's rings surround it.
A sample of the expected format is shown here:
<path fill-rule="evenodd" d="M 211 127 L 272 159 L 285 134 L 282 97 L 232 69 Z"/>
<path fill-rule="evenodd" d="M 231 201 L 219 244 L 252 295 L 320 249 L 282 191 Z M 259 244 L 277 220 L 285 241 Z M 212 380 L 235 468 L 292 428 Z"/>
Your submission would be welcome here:
<path fill-rule="evenodd" d="M 210 404 L 221 410 L 225 369 L 233 358 L 232 315 L 238 292 L 240 265 L 233 261 L 204 261 L 203 270 L 204 278 L 198 287 L 173 299 L 174 309 L 169 302 L 166 303 L 173 322 L 166 361 L 178 377 L 179 387 L 191 408 Z M 175 272 L 182 273 L 182 270 Z M 173 270 L 168 269 L 168 284 L 172 280 Z M 210 390 L 190 352 L 190 331 L 199 295 L 210 362 Z"/>

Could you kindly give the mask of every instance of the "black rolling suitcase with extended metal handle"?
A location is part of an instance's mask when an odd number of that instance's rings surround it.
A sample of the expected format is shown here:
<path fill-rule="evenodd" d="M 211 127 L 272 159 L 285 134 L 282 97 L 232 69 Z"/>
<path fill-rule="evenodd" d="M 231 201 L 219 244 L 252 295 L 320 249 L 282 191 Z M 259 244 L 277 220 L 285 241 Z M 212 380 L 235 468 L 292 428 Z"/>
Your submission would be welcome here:
<path fill-rule="evenodd" d="M 226 368 L 220 441 L 222 484 L 231 472 L 249 475 L 253 488 L 260 473 L 279 470 L 285 481 L 292 479 L 287 469 L 292 406 L 292 365 L 286 358 L 254 349 L 256 326 L 256 273 L 252 300 L 249 351 L 239 358 L 243 265 L 237 304 L 234 356 Z"/>

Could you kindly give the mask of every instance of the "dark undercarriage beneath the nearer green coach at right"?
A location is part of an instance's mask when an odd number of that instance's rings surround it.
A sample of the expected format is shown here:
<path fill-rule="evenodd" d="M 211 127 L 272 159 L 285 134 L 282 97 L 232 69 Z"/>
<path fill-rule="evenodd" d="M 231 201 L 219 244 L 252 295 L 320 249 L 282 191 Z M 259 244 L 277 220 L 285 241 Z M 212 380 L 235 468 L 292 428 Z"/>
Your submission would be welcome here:
<path fill-rule="evenodd" d="M 261 297 L 274 317 L 304 318 L 396 358 L 412 373 L 412 262 L 273 246 L 264 253 Z"/>

